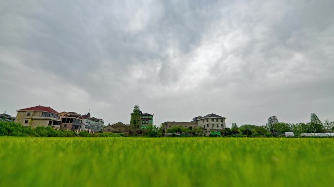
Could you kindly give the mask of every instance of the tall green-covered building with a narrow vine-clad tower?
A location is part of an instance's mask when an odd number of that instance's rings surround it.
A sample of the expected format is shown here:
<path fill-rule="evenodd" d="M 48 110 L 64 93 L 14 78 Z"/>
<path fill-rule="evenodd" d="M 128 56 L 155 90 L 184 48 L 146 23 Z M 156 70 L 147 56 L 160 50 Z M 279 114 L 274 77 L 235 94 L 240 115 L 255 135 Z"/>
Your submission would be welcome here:
<path fill-rule="evenodd" d="M 143 113 L 139 110 L 139 106 L 135 105 L 131 113 L 130 126 L 135 129 L 147 129 L 149 125 L 153 125 L 153 114 Z"/>

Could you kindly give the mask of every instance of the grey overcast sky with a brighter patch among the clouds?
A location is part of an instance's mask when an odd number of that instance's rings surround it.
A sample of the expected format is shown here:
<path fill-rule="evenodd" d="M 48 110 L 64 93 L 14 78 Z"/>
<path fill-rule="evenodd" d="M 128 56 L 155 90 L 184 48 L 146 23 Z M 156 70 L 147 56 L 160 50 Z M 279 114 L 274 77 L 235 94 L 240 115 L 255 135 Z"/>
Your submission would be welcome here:
<path fill-rule="evenodd" d="M 334 120 L 333 0 L 0 1 L 0 113 Z"/>

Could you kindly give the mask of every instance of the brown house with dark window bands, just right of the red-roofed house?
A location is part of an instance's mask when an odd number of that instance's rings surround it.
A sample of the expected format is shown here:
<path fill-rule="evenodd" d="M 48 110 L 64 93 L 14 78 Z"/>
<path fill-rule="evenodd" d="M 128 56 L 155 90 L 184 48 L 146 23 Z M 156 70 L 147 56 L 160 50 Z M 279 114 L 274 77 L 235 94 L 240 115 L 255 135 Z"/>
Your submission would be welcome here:
<path fill-rule="evenodd" d="M 61 112 L 61 130 L 78 131 L 81 129 L 83 117 L 76 112 Z"/>

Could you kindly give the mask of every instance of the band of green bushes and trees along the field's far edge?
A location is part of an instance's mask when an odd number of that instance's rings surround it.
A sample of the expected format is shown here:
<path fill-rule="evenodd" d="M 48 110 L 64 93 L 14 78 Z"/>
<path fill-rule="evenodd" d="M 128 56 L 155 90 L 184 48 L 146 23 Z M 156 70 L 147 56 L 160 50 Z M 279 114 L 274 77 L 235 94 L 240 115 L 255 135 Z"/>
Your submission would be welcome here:
<path fill-rule="evenodd" d="M 242 125 L 237 127 L 233 125 L 232 128 L 225 128 L 219 131 L 219 133 L 211 134 L 211 136 L 225 136 L 225 137 L 276 137 L 281 136 L 284 132 L 292 131 L 298 136 L 300 133 L 323 133 L 334 132 L 334 122 L 328 120 L 324 124 L 316 123 L 276 123 L 269 129 L 267 126 L 257 125 Z M 144 137 L 162 137 L 165 136 L 204 136 L 202 128 L 184 128 L 173 127 L 163 130 L 162 127 L 148 126 L 146 130 L 140 131 L 128 131 L 127 133 L 88 133 L 87 131 L 81 131 L 76 133 L 74 131 L 56 131 L 51 127 L 37 127 L 34 129 L 23 127 L 21 124 L 13 122 L 0 122 L 0 136 L 42 136 L 42 137 L 132 137 L 132 136 L 144 136 Z"/>

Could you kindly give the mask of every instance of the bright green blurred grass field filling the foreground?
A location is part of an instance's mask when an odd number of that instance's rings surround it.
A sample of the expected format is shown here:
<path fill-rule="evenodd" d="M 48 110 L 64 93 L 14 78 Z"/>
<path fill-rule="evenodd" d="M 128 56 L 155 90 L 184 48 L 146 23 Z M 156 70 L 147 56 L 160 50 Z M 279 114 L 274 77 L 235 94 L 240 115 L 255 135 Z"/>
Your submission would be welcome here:
<path fill-rule="evenodd" d="M 334 139 L 0 137 L 0 187 L 332 186 Z"/>

